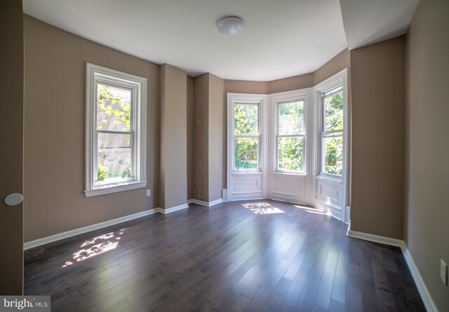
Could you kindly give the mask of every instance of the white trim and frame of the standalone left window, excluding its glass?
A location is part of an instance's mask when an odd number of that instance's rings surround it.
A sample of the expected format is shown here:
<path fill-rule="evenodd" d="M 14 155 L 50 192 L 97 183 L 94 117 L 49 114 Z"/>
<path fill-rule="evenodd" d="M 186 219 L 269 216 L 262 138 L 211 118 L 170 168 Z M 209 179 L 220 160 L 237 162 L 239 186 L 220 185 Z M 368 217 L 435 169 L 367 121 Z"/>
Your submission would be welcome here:
<path fill-rule="evenodd" d="M 133 109 L 134 140 L 133 181 L 120 181 L 111 184 L 95 185 L 97 176 L 95 163 L 97 142 L 94 140 L 96 127 L 96 81 L 105 79 L 134 90 L 135 107 Z M 140 189 L 147 185 L 147 79 L 118 72 L 98 65 L 86 63 L 86 197 Z"/>

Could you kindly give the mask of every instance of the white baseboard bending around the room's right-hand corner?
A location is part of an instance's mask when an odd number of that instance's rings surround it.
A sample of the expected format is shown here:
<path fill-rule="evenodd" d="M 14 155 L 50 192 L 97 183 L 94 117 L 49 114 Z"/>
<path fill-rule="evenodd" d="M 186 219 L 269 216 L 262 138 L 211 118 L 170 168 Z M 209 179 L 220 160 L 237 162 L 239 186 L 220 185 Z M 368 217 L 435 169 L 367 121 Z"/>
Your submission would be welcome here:
<path fill-rule="evenodd" d="M 413 280 L 415 280 L 415 284 L 418 289 L 418 292 L 420 292 L 422 302 L 424 303 L 424 306 L 426 307 L 427 312 L 438 312 L 438 308 L 436 307 L 436 304 L 435 304 L 434 300 L 432 299 L 430 292 L 427 289 L 426 284 L 424 283 L 424 280 L 422 279 L 420 270 L 418 270 L 415 262 L 413 261 L 413 257 L 410 254 L 410 251 L 408 250 L 406 242 L 404 242 L 403 240 L 398 240 L 398 239 L 394 239 L 394 238 L 377 236 L 377 235 L 358 232 L 358 231 L 351 231 L 350 225 L 348 227 L 347 236 L 350 236 L 353 238 L 358 238 L 361 240 L 368 240 L 368 241 L 374 242 L 374 243 L 381 243 L 381 244 L 385 244 L 385 245 L 400 247 L 404 258 L 406 259 L 408 269 L 410 270 L 410 273 L 412 274 Z"/>

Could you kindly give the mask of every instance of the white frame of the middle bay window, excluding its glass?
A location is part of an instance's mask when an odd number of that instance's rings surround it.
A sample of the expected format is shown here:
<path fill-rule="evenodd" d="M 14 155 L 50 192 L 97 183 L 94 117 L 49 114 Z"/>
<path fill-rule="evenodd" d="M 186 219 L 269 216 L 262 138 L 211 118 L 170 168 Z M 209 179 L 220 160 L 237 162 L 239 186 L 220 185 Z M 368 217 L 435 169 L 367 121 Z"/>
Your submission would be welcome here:
<path fill-rule="evenodd" d="M 279 105 L 281 104 L 290 104 L 294 102 L 302 102 L 302 135 L 279 135 Z M 276 111 L 276 117 L 275 117 L 275 134 L 274 134 L 274 149 L 275 149 L 275 159 L 274 159 L 274 172 L 278 173 L 291 173 L 295 175 L 306 175 L 307 174 L 307 168 L 306 168 L 306 136 L 307 136 L 307 129 L 306 129 L 306 97 L 293 97 L 290 99 L 281 99 L 281 100 L 275 100 L 275 111 Z M 287 170 L 287 169 L 280 169 L 279 168 L 279 137 L 302 137 L 302 170 Z"/>

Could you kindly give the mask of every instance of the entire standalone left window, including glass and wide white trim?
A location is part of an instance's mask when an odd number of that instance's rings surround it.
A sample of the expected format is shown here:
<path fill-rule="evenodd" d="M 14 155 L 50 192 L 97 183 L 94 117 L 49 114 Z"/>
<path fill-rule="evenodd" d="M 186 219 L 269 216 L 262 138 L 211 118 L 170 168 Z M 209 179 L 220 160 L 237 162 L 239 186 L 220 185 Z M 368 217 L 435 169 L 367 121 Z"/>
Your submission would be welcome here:
<path fill-rule="evenodd" d="M 145 187 L 147 79 L 86 69 L 86 196 Z"/>

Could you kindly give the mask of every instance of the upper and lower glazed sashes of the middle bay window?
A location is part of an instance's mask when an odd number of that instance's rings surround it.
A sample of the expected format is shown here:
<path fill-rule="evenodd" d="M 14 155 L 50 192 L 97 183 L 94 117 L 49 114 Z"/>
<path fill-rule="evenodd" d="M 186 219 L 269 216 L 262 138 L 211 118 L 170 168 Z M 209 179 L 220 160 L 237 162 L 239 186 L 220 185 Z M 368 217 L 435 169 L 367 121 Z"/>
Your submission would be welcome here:
<path fill-rule="evenodd" d="M 276 170 L 304 172 L 304 100 L 277 104 Z"/>

